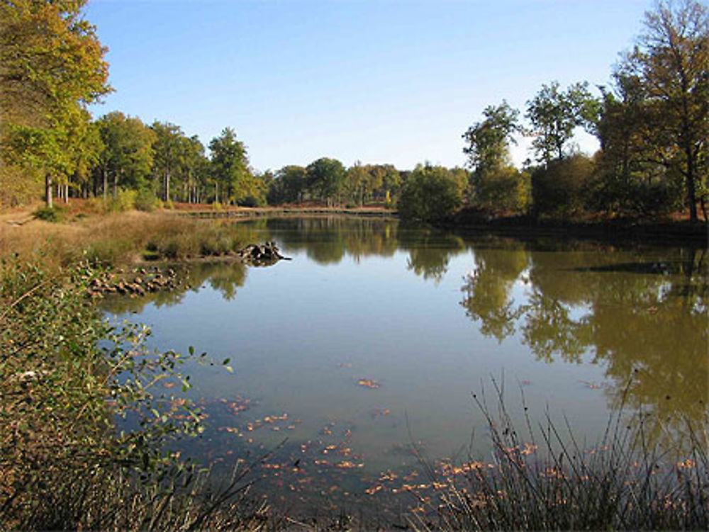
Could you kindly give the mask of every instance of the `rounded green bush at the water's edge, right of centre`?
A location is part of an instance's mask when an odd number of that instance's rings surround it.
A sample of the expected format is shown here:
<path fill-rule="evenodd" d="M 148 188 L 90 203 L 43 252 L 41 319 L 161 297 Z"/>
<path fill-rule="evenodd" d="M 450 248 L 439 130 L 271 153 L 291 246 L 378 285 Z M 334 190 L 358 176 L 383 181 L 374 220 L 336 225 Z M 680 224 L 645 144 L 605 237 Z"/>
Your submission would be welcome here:
<path fill-rule="evenodd" d="M 465 185 L 449 169 L 419 164 L 401 191 L 399 214 L 408 219 L 440 220 L 462 205 Z"/>

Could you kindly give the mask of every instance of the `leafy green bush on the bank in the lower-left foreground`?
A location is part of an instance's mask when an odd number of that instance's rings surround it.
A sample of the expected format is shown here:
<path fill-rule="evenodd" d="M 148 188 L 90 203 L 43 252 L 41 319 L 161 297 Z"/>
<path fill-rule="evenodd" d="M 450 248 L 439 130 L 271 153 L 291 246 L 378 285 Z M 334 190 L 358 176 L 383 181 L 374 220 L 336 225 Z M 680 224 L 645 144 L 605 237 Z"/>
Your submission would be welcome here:
<path fill-rule="evenodd" d="M 186 390 L 184 362 L 211 361 L 192 349 L 189 357 L 150 351 L 146 327 L 104 321 L 86 291 L 100 273 L 86 263 L 53 275 L 16 259 L 0 264 L 0 520 L 8 528 L 38 519 L 42 508 L 44 519 L 62 519 L 70 479 L 94 479 L 86 488 L 109 493 L 101 482 L 133 470 L 155 484 L 179 466 L 164 443 L 201 431 L 199 410 L 157 384 Z M 118 431 L 116 417 L 138 428 Z M 59 504 L 45 506 L 52 499 Z M 120 507 L 120 497 L 112 504 Z"/>

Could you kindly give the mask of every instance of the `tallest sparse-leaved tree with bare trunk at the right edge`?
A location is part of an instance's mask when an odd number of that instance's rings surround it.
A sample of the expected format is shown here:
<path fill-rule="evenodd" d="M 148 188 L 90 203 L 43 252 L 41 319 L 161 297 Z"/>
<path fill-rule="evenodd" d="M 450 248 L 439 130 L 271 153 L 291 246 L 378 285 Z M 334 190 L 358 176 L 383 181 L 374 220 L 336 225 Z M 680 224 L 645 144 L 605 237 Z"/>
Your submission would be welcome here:
<path fill-rule="evenodd" d="M 645 13 L 644 26 L 623 68 L 647 91 L 648 110 L 658 118 L 657 160 L 684 176 L 696 221 L 709 167 L 709 9 L 696 0 L 659 1 Z"/>

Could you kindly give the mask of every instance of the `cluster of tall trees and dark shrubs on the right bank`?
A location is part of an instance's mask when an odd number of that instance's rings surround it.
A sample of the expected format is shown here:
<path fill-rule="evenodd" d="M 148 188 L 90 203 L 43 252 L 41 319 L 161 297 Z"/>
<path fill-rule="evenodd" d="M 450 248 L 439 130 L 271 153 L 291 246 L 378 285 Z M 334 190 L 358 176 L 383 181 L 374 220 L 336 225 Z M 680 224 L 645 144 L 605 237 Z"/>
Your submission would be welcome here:
<path fill-rule="evenodd" d="M 660 2 L 622 55 L 609 86 L 542 86 L 520 111 L 489 106 L 464 133 L 471 203 L 479 208 L 573 217 L 664 215 L 697 206 L 709 190 L 709 11 L 694 0 Z M 601 149 L 578 152 L 574 132 Z M 535 162 L 510 164 L 510 144 L 531 137 Z"/>

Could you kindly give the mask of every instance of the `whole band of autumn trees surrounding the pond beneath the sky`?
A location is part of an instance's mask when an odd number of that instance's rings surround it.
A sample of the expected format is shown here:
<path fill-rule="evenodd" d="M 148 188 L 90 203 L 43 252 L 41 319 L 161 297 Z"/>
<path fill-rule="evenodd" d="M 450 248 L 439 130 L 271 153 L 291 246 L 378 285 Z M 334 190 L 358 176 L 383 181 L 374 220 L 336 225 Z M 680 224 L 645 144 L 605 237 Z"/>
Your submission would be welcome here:
<path fill-rule="evenodd" d="M 491 105 L 462 134 L 465 168 L 411 171 L 328 157 L 257 171 L 233 128 L 205 147 L 172 123 L 118 111 L 94 118 L 89 106 L 112 89 L 84 4 L 0 4 L 0 205 L 44 191 L 50 209 L 55 198 L 95 198 L 115 210 L 316 202 L 398 207 L 423 220 L 462 208 L 566 220 L 688 210 L 691 221 L 707 220 L 709 10 L 699 1 L 659 1 L 645 13 L 608 86 L 551 81 L 523 113 Z M 592 156 L 574 144 L 579 129 L 600 143 Z M 510 145 L 520 137 L 533 153 L 518 168 Z"/>

